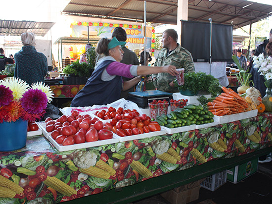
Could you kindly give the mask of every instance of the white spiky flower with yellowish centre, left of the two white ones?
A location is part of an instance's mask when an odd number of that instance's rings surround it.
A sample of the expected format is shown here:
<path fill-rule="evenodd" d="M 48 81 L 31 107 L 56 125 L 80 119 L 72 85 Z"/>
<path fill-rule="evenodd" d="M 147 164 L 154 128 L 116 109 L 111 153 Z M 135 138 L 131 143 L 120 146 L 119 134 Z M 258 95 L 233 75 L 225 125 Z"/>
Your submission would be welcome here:
<path fill-rule="evenodd" d="M 11 78 L 10 80 L 1 81 L 0 84 L 8 87 L 12 91 L 13 100 L 19 100 L 22 98 L 23 94 L 29 89 L 28 84 L 19 79 Z"/>

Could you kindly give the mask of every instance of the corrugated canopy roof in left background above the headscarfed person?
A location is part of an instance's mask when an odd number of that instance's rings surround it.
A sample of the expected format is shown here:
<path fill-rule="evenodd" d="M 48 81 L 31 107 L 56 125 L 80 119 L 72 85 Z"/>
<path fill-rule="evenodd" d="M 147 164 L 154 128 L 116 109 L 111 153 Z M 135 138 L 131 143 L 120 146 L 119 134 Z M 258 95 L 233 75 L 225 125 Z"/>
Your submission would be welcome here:
<path fill-rule="evenodd" d="M 54 24 L 53 22 L 0 20 L 0 35 L 20 36 L 22 33 L 32 32 L 44 37 Z"/>

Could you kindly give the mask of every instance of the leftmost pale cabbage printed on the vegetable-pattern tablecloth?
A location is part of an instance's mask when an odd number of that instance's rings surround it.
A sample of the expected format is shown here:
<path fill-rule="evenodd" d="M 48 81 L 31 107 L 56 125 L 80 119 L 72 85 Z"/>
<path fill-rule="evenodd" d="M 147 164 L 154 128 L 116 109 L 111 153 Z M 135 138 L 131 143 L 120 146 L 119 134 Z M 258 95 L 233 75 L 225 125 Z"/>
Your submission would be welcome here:
<path fill-rule="evenodd" d="M 20 157 L 20 161 L 22 163 L 22 166 L 35 171 L 37 166 L 46 166 L 48 165 L 48 157 L 46 155 L 43 155 L 44 157 L 40 161 L 36 161 L 33 157 L 34 155 L 25 155 Z M 46 168 L 46 167 L 45 167 Z"/>

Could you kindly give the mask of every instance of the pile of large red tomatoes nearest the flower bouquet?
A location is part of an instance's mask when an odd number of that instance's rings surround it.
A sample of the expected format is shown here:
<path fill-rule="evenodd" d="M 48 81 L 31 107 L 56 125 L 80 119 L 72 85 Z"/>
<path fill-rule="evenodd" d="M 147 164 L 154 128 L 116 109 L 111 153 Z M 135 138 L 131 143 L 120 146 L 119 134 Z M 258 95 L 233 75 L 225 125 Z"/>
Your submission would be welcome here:
<path fill-rule="evenodd" d="M 111 139 L 112 126 L 108 127 L 98 118 L 89 114 L 80 115 L 73 110 L 71 115 L 62 115 L 56 121 L 48 117 L 45 119 L 46 131 L 51 137 L 63 146 L 74 145 L 85 142 Z"/>

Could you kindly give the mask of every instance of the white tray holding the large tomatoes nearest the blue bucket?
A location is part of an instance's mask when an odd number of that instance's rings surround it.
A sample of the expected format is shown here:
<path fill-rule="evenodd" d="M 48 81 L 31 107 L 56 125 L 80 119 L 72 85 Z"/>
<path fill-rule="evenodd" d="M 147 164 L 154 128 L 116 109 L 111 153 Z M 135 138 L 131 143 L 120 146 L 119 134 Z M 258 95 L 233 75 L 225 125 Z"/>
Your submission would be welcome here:
<path fill-rule="evenodd" d="M 89 142 L 89 143 L 80 143 L 80 144 L 75 144 L 75 145 L 67 145 L 63 146 L 58 144 L 52 137 L 51 135 L 48 136 L 48 140 L 51 142 L 51 144 L 59 151 L 59 152 L 64 152 L 64 151 L 69 151 L 69 150 L 77 150 L 77 149 L 82 149 L 82 148 L 91 148 L 91 147 L 97 147 L 101 145 L 108 145 L 108 144 L 113 144 L 113 143 L 118 143 L 119 142 L 119 137 L 115 134 L 113 134 L 112 139 L 107 139 L 107 140 L 98 140 L 94 142 Z"/>

